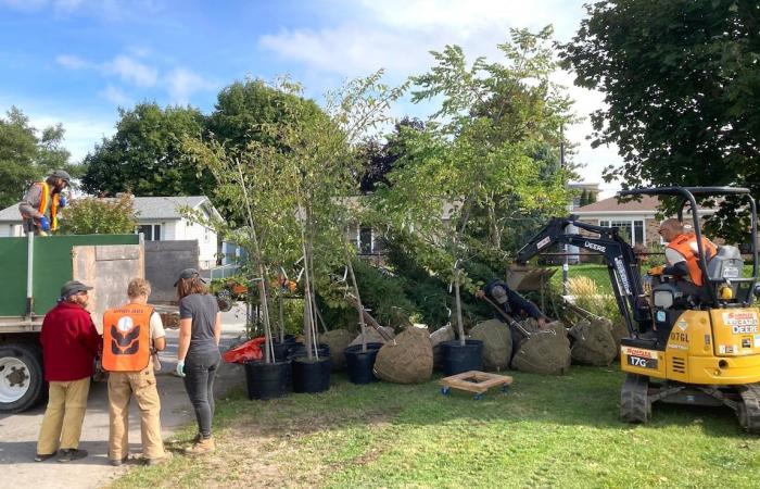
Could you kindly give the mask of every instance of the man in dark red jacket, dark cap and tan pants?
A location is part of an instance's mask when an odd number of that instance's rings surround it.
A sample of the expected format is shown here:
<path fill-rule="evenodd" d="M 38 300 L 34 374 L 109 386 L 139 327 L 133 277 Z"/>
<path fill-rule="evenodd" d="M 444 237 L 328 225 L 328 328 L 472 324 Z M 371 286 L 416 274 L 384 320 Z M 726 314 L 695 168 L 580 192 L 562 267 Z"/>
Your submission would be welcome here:
<path fill-rule="evenodd" d="M 55 455 L 59 462 L 87 456 L 79 450 L 94 356 L 102 339 L 87 306 L 92 287 L 72 280 L 61 288 L 58 305 L 45 315 L 39 340 L 42 343 L 45 379 L 49 383 L 48 408 L 37 441 L 35 461 Z"/>

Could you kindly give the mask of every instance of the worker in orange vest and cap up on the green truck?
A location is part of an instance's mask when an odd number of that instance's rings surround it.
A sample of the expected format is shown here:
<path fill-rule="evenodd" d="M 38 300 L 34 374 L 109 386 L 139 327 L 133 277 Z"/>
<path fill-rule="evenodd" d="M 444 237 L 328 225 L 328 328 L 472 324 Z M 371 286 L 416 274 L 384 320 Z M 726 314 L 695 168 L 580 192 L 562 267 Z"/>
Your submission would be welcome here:
<path fill-rule="evenodd" d="M 55 170 L 45 181 L 31 184 L 18 203 L 24 233 L 45 236 L 58 229 L 58 211 L 66 206 L 66 198 L 61 191 L 71 185 L 72 176 L 63 170 Z"/>

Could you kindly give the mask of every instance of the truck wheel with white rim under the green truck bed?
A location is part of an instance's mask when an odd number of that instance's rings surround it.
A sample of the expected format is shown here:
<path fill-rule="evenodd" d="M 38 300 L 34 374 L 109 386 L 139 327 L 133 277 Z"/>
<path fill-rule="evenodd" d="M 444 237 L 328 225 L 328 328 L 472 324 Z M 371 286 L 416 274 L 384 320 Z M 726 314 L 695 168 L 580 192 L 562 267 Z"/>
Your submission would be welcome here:
<path fill-rule="evenodd" d="M 0 412 L 20 413 L 45 394 L 42 352 L 34 343 L 0 344 Z"/>

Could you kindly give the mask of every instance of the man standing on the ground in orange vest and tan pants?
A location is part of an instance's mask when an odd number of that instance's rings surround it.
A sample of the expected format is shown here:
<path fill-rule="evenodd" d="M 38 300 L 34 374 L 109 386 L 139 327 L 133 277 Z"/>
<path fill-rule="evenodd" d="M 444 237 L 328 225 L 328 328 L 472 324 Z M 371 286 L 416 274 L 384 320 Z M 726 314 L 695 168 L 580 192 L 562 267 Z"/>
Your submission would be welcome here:
<path fill-rule="evenodd" d="M 109 372 L 109 460 L 122 465 L 129 457 L 128 417 L 132 396 L 140 408 L 142 459 L 148 465 L 167 460 L 161 437 L 161 399 L 153 354 L 166 347 L 161 316 L 148 305 L 151 285 L 142 278 L 127 287 L 129 302 L 103 315 L 103 369 Z"/>

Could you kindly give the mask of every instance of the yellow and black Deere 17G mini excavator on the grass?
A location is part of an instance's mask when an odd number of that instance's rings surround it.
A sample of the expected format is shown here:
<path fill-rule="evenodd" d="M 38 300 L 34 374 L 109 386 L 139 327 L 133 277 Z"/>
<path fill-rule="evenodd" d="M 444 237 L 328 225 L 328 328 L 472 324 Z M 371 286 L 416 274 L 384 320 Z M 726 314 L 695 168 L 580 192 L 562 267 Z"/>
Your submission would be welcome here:
<path fill-rule="evenodd" d="M 625 373 L 620 393 L 620 417 L 647 423 L 657 401 L 675 404 L 727 405 L 739 424 L 760 434 L 760 298 L 758 281 L 757 208 L 746 188 L 659 187 L 625 190 L 620 196 L 668 196 L 679 199 L 679 221 L 691 208 L 697 260 L 704 280 L 699 293 L 679 287 L 681 278 L 658 275 L 651 292 L 643 287 L 632 247 L 617 227 L 582 223 L 575 216 L 555 217 L 517 254 L 517 263 L 554 243 L 571 244 L 607 262 L 618 308 L 629 338 L 621 342 L 620 363 Z M 743 277 L 744 261 L 733 246 L 718 247 L 705 260 L 697 198 L 738 196 L 751 213 L 752 275 Z M 582 229 L 584 233 L 570 231 Z"/>

